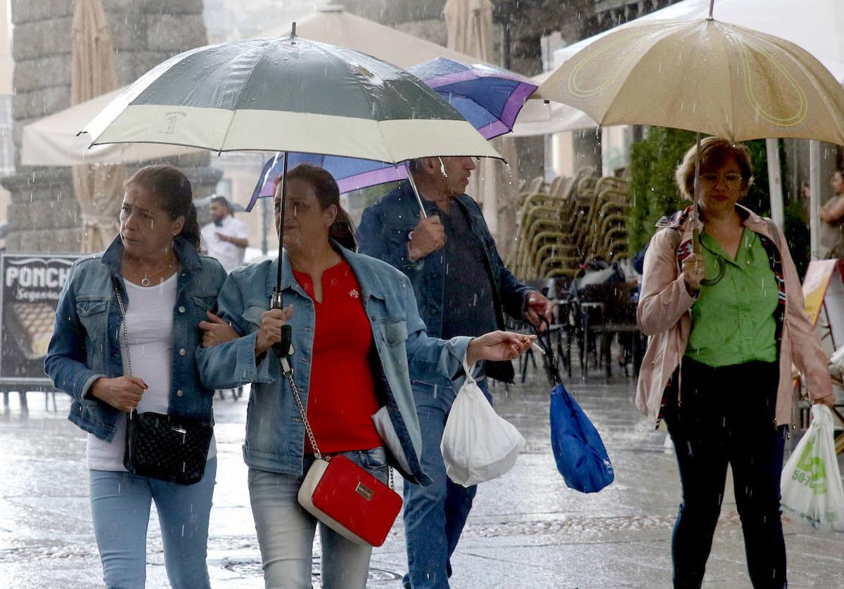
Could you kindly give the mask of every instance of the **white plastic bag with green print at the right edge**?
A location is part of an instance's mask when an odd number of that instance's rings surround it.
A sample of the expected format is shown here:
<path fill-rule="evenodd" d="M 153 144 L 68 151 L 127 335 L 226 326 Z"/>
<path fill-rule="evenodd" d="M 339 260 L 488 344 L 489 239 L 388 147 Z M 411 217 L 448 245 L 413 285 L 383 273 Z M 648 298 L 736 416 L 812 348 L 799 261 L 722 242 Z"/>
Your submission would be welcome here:
<path fill-rule="evenodd" d="M 844 489 L 838 469 L 832 412 L 812 406 L 812 424 L 782 469 L 782 511 L 824 530 L 844 532 Z"/>

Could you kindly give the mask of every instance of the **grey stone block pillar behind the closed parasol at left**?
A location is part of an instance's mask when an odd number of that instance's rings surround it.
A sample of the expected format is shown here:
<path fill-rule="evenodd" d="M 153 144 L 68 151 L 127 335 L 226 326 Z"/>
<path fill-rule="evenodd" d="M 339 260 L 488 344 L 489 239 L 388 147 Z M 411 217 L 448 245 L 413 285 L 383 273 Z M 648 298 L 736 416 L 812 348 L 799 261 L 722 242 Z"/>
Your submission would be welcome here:
<path fill-rule="evenodd" d="M 129 84 L 167 57 L 207 41 L 202 0 L 102 0 L 111 27 L 120 84 Z M 14 145 L 16 173 L 3 178 L 11 193 L 8 251 L 78 251 L 79 208 L 69 167 L 19 165 L 21 131 L 70 103 L 74 0 L 12 0 L 14 24 Z M 80 127 L 84 121 L 80 121 Z M 214 191 L 219 172 L 208 154 L 179 167 L 196 197 Z M 132 170 L 128 170 L 129 173 Z"/>

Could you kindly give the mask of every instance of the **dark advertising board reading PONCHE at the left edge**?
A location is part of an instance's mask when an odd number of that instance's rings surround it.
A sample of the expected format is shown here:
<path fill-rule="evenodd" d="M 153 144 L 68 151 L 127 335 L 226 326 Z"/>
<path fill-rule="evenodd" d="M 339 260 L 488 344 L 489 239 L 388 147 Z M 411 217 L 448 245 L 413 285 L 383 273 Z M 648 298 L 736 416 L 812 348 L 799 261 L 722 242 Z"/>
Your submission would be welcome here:
<path fill-rule="evenodd" d="M 0 255 L 0 384 L 50 384 L 44 357 L 58 295 L 78 255 Z"/>

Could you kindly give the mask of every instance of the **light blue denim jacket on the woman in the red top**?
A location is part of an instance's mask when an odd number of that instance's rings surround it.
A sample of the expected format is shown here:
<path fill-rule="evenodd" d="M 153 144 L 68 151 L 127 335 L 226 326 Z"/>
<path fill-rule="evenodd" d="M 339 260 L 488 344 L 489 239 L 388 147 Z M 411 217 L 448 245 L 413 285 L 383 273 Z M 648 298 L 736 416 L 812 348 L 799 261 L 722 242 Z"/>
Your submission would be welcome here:
<path fill-rule="evenodd" d="M 376 349 L 373 370 L 381 372 L 375 378 L 376 394 L 382 403 L 373 420 L 387 448 L 388 460 L 411 482 L 429 484 L 430 478 L 419 464 L 422 436 L 410 376 L 431 378 L 437 374 L 459 386 L 471 338 L 429 338 L 407 277 L 384 262 L 334 245 L 358 279 L 371 325 Z M 272 350 L 255 358 L 258 327 L 263 313 L 268 311 L 278 267 L 276 258 L 230 274 L 219 293 L 219 316 L 242 337 L 200 349 L 197 362 L 203 383 L 210 388 L 252 383 L 243 446 L 246 464 L 274 473 L 300 474 L 305 424 L 293 393 Z M 289 324 L 295 352 L 290 363 L 302 403 L 307 406 L 316 311 L 311 298 L 293 277 L 286 256 L 282 294 L 284 306 L 292 304 L 294 308 Z"/>

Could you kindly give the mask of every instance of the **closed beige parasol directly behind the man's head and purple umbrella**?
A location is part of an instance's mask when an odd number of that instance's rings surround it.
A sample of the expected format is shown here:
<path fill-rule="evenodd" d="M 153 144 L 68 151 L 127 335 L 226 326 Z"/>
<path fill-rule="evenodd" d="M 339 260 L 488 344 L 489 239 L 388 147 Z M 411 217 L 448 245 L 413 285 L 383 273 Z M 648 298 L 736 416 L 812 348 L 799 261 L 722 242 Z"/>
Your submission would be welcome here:
<path fill-rule="evenodd" d="M 446 16 L 448 47 L 474 57 L 468 63 L 477 60 L 489 62 L 492 57 L 490 0 L 447 0 L 443 14 Z M 490 143 L 510 162 L 510 166 L 505 168 L 489 158 L 481 159 L 469 180 L 467 192 L 481 203 L 490 232 L 506 254 L 516 235 L 516 145 L 511 138 L 504 137 L 491 139 Z"/>

